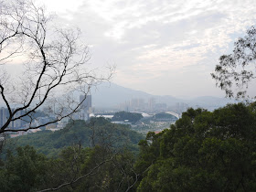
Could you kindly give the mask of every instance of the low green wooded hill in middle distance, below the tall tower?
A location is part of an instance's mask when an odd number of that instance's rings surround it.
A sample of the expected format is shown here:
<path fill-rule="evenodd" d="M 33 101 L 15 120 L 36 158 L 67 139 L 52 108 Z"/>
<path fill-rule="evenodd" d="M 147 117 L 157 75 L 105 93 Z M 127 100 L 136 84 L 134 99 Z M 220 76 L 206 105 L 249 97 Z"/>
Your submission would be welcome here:
<path fill-rule="evenodd" d="M 14 151 L 17 146 L 27 144 L 34 146 L 37 152 L 48 156 L 57 156 L 67 146 L 80 144 L 84 147 L 109 145 L 113 148 L 125 146 L 132 151 L 138 151 L 137 144 L 143 135 L 129 129 L 129 125 L 110 123 L 106 119 L 91 118 L 89 123 L 78 120 L 70 122 L 59 131 L 41 131 L 16 137 L 7 141 L 6 149 Z"/>

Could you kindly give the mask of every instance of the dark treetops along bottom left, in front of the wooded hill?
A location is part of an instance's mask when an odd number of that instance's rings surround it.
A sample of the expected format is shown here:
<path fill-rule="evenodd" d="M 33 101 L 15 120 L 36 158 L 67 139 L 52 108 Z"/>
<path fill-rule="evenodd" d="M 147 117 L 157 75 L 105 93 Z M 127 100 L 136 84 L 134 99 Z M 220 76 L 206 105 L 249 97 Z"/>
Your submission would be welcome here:
<path fill-rule="evenodd" d="M 112 155 L 105 146 L 72 146 L 51 159 L 27 145 L 18 147 L 16 155 L 9 152 L 0 166 L 1 192 L 125 191 L 133 176 L 133 154 Z"/>

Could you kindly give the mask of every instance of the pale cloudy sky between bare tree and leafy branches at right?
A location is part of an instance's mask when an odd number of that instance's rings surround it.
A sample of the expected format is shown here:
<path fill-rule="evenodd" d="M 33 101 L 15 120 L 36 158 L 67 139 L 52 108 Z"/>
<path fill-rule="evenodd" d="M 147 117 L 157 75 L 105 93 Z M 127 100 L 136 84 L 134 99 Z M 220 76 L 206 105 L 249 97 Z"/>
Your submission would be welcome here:
<path fill-rule="evenodd" d="M 157 95 L 224 96 L 210 72 L 256 24 L 255 0 L 41 2 L 80 27 L 93 65 L 116 65 L 113 82 Z"/>

